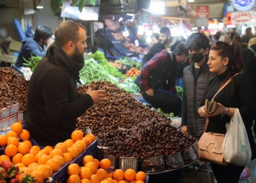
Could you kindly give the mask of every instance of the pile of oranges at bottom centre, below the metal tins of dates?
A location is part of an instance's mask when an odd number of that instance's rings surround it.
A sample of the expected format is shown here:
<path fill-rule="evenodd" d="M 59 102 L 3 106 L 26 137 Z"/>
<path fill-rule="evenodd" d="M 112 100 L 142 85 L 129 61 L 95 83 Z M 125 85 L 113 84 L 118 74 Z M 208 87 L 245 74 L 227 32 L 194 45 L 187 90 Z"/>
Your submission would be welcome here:
<path fill-rule="evenodd" d="M 67 182 L 81 182 L 81 183 L 144 183 L 146 180 L 145 172 L 136 173 L 132 169 L 128 169 L 125 172 L 121 169 L 115 170 L 115 172 L 107 173 L 107 170 L 111 167 L 111 161 L 109 159 L 93 158 L 90 155 L 83 157 L 83 166 L 79 167 L 76 163 L 68 165 Z"/>

